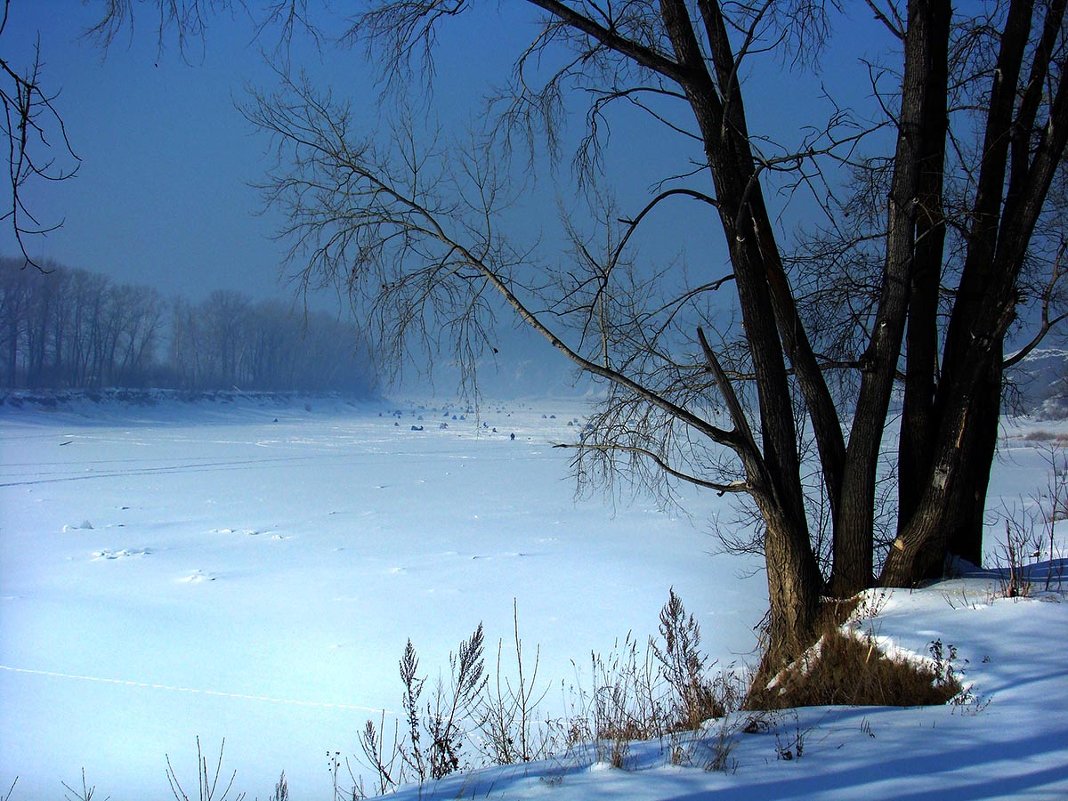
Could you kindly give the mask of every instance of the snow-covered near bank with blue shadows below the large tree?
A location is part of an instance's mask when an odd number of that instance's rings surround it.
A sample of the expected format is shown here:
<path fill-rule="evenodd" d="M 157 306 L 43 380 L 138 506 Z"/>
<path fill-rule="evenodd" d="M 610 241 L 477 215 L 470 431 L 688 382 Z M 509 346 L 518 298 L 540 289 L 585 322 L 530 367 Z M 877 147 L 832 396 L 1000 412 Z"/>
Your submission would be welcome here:
<path fill-rule="evenodd" d="M 870 622 L 888 646 L 926 655 L 956 645 L 975 700 L 895 709 L 811 707 L 735 726 L 729 769 L 672 766 L 665 743 L 631 750 L 628 770 L 586 755 L 477 771 L 412 787 L 397 799 L 772 801 L 783 799 L 1068 798 L 1068 604 L 993 598 L 986 579 L 895 591 Z M 745 716 L 742 716 L 744 718 Z M 709 736 L 722 724 L 713 724 Z M 801 756 L 797 756 L 798 747 Z M 791 758 L 784 758 L 787 751 Z M 700 760 L 702 752 L 696 753 Z"/>

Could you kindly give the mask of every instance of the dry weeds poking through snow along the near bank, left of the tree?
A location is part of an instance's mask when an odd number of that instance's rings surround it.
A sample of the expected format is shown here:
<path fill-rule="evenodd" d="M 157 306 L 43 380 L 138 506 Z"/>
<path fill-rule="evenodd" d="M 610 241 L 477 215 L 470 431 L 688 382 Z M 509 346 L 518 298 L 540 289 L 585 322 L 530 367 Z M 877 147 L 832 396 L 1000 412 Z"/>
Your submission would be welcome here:
<path fill-rule="evenodd" d="M 626 768 L 630 744 L 650 739 L 665 741 L 673 761 L 724 769 L 717 766 L 727 765 L 733 739 L 721 732 L 720 744 L 705 749 L 702 733 L 707 721 L 738 708 L 742 680 L 732 671 L 712 673 L 714 662 L 702 649 L 697 619 L 674 590 L 661 610 L 659 629 L 660 638 L 649 639 L 644 647 L 628 634 L 607 655 L 592 653 L 588 673 L 576 665 L 576 684 L 565 688 L 569 709 L 550 720 L 538 714 L 549 687 L 538 679 L 537 651 L 533 663 L 524 654 L 515 608 L 511 670 L 503 663 L 501 642 L 496 672 L 487 672 L 480 624 L 457 656 L 450 656 L 449 671 L 428 702 L 423 697 L 427 677 L 409 642 L 399 662 L 402 720 L 392 733 L 384 716 L 378 722 L 367 721 L 360 735 L 362 755 L 356 761 L 368 771 L 370 785 L 365 787 L 356 774 L 357 767 L 335 754 L 331 759 L 335 789 L 343 766 L 355 798 L 392 792 L 408 782 L 422 784 L 483 765 L 576 754 Z M 581 679 L 583 673 L 587 685 Z M 704 751 L 709 750 L 711 756 L 706 758 Z"/>

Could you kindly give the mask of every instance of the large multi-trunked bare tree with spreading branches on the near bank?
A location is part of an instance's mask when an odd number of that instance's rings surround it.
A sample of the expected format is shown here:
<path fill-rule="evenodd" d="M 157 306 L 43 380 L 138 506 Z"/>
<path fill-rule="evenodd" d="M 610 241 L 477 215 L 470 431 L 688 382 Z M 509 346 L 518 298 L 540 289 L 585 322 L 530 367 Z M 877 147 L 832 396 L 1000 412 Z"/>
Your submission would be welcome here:
<path fill-rule="evenodd" d="M 873 69 L 879 106 L 869 122 L 836 108 L 792 145 L 750 131 L 747 104 L 759 98 L 747 96 L 742 78 L 769 64 L 802 69 L 823 46 L 836 4 L 531 5 L 540 22 L 498 113 L 487 115 L 488 145 L 450 145 L 403 120 L 361 136 L 345 103 L 283 76 L 277 93 L 247 109 L 279 146 L 266 198 L 288 215 L 290 258 L 307 276 L 342 283 L 393 352 L 421 343 L 433 354 L 445 341 L 473 363 L 491 347 L 496 296 L 606 381 L 609 399 L 579 445 L 586 475 L 625 468 L 747 493 L 763 524 L 769 664 L 778 663 L 807 644 L 828 587 L 849 595 L 868 586 L 880 563 L 889 584 L 937 572 L 952 522 L 981 504 L 1005 336 L 1068 131 L 1065 4 L 1014 0 L 973 14 L 947 0 L 873 0 L 886 58 L 898 60 Z M 403 85 L 428 68 L 439 28 L 465 13 L 477 12 L 462 2 L 376 2 L 347 41 L 382 65 L 384 85 Z M 989 65 L 981 53 L 994 54 Z M 595 195 L 610 180 L 600 172 L 604 131 L 610 109 L 624 106 L 661 124 L 663 142 L 690 143 L 691 166 L 664 176 L 629 215 L 595 203 L 587 223 L 572 217 L 571 246 L 554 255 L 504 230 L 521 189 L 509 183 L 517 150 L 502 145 L 546 143 L 555 155 L 582 97 L 580 189 Z M 867 137 L 882 128 L 896 135 L 893 152 Z M 964 155 L 970 131 L 979 132 L 975 163 Z M 868 184 L 869 235 L 787 258 L 767 189 L 815 188 L 835 211 L 843 172 Z M 630 264 L 632 235 L 670 222 L 670 204 L 681 202 L 703 205 L 719 224 L 728 276 L 712 265 L 691 276 L 677 265 Z M 952 237 L 951 222 L 959 226 Z M 837 352 L 821 349 L 827 331 L 812 326 L 820 314 L 841 320 L 818 301 L 827 287 L 814 278 L 835 258 L 849 266 L 835 273 L 839 297 L 850 282 L 859 288 L 844 293 L 857 309 L 837 332 Z M 743 335 L 733 345 L 709 335 L 725 287 Z M 847 397 L 833 391 L 842 373 L 854 390 Z M 877 554 L 879 465 L 899 387 L 897 533 Z M 808 524 L 805 431 L 832 521 L 828 576 Z"/>

